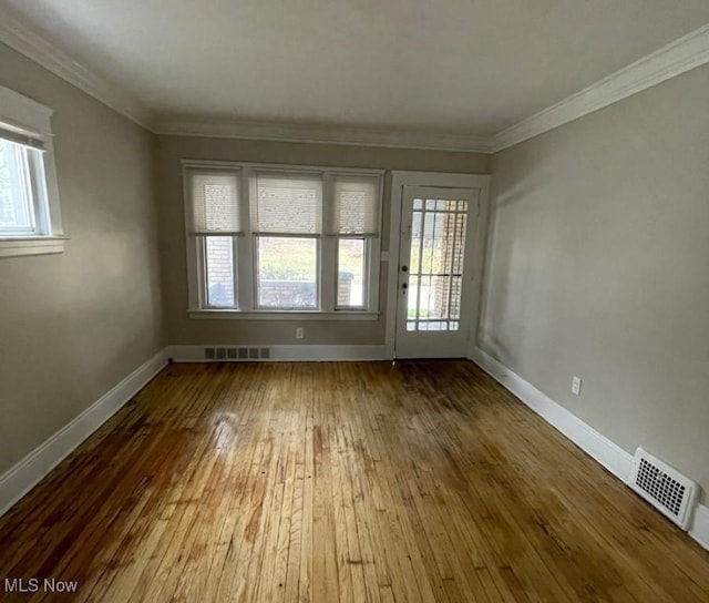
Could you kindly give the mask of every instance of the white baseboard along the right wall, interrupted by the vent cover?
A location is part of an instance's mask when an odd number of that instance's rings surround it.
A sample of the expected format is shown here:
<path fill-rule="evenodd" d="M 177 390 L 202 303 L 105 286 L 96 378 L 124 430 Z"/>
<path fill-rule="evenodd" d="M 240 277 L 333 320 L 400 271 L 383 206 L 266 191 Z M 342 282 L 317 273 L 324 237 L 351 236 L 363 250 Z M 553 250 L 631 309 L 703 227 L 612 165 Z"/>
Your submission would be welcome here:
<path fill-rule="evenodd" d="M 582 421 L 482 349 L 476 347 L 471 360 L 616 478 L 624 483 L 628 482 L 633 454 Z M 702 504 L 697 505 L 689 535 L 705 549 L 709 549 L 709 508 Z"/>

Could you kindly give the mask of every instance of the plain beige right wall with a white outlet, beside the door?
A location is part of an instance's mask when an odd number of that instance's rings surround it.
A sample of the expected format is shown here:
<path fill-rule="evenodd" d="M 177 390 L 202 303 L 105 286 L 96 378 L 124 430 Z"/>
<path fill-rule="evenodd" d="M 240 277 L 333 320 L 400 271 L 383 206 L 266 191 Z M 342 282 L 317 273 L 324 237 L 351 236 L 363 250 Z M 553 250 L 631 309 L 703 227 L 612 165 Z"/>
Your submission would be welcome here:
<path fill-rule="evenodd" d="M 707 99 L 702 68 L 494 157 L 481 329 L 485 351 L 705 490 Z"/>

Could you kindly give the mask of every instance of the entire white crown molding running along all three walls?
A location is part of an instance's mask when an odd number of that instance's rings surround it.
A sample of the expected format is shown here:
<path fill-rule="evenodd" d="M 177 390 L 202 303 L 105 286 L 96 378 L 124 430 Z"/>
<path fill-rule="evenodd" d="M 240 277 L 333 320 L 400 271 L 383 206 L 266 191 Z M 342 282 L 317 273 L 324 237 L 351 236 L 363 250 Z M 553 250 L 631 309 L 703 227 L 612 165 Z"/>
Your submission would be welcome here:
<path fill-rule="evenodd" d="M 138 125 L 164 135 L 496 153 L 709 62 L 709 24 L 499 132 L 467 134 L 251 121 L 155 119 L 132 94 L 73 60 L 3 8 L 3 42 Z"/>

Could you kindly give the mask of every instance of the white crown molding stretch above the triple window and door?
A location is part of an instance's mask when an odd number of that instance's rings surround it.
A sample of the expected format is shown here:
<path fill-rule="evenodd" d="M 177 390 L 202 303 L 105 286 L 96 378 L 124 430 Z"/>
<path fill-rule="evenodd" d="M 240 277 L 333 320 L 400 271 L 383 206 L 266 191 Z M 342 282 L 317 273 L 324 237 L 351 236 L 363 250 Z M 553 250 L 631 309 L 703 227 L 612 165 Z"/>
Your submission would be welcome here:
<path fill-rule="evenodd" d="M 157 134 L 175 136 L 249 139 L 261 141 L 490 153 L 487 141 L 480 136 L 418 132 L 411 130 L 348 127 L 307 123 L 294 124 L 251 121 L 164 120 L 157 121 L 154 124 L 154 131 Z"/>

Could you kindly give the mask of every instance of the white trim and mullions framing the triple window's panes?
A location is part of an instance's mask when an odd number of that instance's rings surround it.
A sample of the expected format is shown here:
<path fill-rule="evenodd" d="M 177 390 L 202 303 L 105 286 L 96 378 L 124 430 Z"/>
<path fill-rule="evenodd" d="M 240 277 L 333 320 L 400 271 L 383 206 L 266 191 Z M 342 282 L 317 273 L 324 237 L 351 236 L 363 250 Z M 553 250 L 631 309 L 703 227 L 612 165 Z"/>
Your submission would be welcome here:
<path fill-rule="evenodd" d="M 196 319 L 277 319 L 277 320 L 377 320 L 381 313 L 379 311 L 379 276 L 380 276 L 380 263 L 381 263 L 381 227 L 382 227 L 382 209 L 383 209 L 383 176 L 384 170 L 373 168 L 353 168 L 353 167 L 332 167 L 332 166 L 314 166 L 314 165 L 291 165 L 291 164 L 273 164 L 273 163 L 247 163 L 247 162 L 229 162 L 229 161 L 204 161 L 204 160 L 182 160 L 183 171 L 183 203 L 184 203 L 184 216 L 185 216 L 185 247 L 187 254 L 187 287 L 188 287 L 188 307 L 187 314 L 189 318 Z M 232 308 L 208 308 L 203 306 L 203 283 L 204 275 L 202 274 L 201 255 L 198 251 L 198 238 L 189 234 L 189 225 L 187 216 L 191 212 L 191 203 L 188 194 L 188 186 L 186 182 L 186 172 L 189 168 L 223 168 L 233 170 L 240 176 L 240 198 L 247 200 L 248 203 L 242 204 L 242 224 L 247 224 L 249 227 L 246 229 L 245 235 L 236 237 L 237 239 L 237 256 L 236 256 L 236 295 L 240 307 L 247 307 L 249 309 L 239 310 Z M 254 257 L 253 235 L 250 228 L 250 197 L 249 197 L 249 176 L 253 171 L 277 171 L 281 173 L 292 172 L 294 174 L 302 174 L 311 172 L 314 174 L 322 174 L 322 224 L 328 224 L 329 212 L 332 208 L 329 206 L 331 195 L 332 178 L 336 175 L 360 175 L 379 178 L 379 236 L 370 237 L 367 257 L 367 272 L 364 277 L 367 287 L 367 299 L 364 307 L 352 308 L 336 308 L 335 289 L 329 290 L 337 286 L 337 241 L 340 237 L 327 235 L 323 232 L 318 236 L 320 243 L 320 251 L 318 254 L 318 288 L 320 309 L 274 309 L 263 308 L 259 309 L 256 306 L 255 300 L 255 278 L 256 270 Z M 297 236 L 297 235 L 294 235 Z M 348 238 L 343 236 L 341 238 Z M 329 277 L 326 277 L 326 270 Z M 332 273 L 332 274 L 330 274 Z M 329 283 L 328 279 L 333 279 Z M 240 280 L 240 282 L 239 282 Z M 243 283 L 246 282 L 246 283 Z"/>

